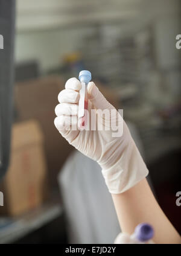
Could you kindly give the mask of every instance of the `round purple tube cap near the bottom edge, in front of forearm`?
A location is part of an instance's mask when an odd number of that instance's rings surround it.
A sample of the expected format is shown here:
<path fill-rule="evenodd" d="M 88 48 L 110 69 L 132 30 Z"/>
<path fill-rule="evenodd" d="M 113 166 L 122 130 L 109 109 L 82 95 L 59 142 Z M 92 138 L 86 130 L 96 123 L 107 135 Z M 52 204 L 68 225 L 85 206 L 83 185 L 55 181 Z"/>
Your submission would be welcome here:
<path fill-rule="evenodd" d="M 141 223 L 135 228 L 135 237 L 141 242 L 150 240 L 153 235 L 153 228 L 148 223 Z"/>

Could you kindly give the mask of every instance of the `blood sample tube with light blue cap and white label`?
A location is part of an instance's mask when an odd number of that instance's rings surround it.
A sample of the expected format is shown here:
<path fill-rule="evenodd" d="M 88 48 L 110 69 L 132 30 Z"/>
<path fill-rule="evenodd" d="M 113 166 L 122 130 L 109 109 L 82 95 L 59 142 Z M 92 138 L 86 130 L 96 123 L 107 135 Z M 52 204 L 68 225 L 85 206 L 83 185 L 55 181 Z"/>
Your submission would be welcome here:
<path fill-rule="evenodd" d="M 85 109 L 88 109 L 87 85 L 91 78 L 91 73 L 87 70 L 81 71 L 78 75 L 78 79 L 81 82 L 80 99 L 78 102 L 78 127 L 80 130 L 84 130 L 87 124 L 87 111 L 85 111 Z"/>

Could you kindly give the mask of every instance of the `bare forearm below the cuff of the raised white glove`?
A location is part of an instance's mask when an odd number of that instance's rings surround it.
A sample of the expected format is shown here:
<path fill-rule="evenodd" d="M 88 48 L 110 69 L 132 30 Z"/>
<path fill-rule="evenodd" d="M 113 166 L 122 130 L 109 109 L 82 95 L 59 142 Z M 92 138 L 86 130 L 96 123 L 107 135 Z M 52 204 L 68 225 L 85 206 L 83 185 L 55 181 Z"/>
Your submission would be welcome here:
<path fill-rule="evenodd" d="M 121 194 L 112 194 L 122 232 L 132 234 L 136 225 L 150 223 L 155 243 L 181 243 L 181 238 L 160 208 L 146 179 Z"/>

